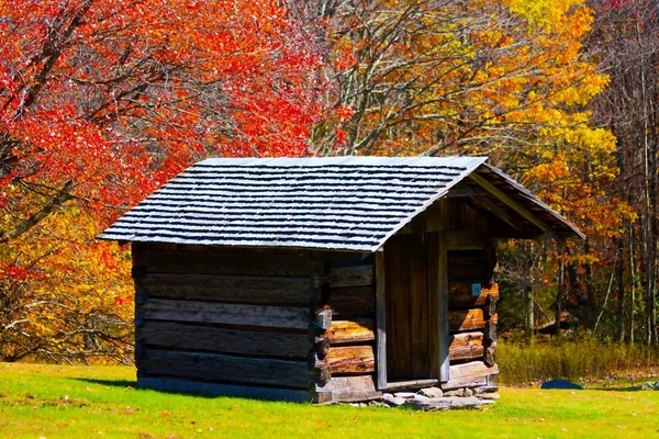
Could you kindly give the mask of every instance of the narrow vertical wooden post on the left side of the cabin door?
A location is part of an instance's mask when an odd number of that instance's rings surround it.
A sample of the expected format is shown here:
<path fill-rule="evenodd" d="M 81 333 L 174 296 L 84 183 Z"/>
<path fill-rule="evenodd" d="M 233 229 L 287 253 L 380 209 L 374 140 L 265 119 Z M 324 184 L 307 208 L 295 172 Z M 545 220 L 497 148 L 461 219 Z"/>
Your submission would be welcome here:
<path fill-rule="evenodd" d="M 384 251 L 376 252 L 376 371 L 377 389 L 387 387 L 387 266 Z"/>

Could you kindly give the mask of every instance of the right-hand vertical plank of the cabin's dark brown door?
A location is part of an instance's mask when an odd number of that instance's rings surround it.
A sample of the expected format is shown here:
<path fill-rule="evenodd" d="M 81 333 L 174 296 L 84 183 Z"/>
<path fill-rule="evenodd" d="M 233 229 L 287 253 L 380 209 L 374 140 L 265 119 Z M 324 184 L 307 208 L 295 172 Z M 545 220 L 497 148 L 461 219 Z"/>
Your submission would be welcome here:
<path fill-rule="evenodd" d="M 411 369 L 410 378 L 428 378 L 428 300 L 426 290 L 426 258 L 423 235 L 410 236 L 410 329 Z"/>

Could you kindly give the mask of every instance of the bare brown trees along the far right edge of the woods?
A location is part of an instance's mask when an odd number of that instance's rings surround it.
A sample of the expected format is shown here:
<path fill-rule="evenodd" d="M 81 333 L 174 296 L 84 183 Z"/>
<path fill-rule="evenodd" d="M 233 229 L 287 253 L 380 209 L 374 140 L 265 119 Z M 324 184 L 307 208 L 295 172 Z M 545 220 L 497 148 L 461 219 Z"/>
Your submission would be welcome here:
<path fill-rule="evenodd" d="M 589 3 L 596 13 L 590 50 L 611 77 L 611 86 L 594 105 L 596 120 L 616 137 L 621 173 L 610 191 L 635 214 L 621 226 L 616 241 L 617 338 L 643 338 L 651 345 L 659 342 L 659 7 L 646 0 Z"/>

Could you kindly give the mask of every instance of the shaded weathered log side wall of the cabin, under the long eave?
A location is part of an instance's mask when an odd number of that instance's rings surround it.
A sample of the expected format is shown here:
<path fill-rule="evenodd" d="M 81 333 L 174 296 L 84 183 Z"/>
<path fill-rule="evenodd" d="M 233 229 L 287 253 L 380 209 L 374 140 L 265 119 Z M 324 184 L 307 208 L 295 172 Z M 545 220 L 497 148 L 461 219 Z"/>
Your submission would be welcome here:
<path fill-rule="evenodd" d="M 133 263 L 141 385 L 311 401 L 328 380 L 320 252 L 134 244 Z"/>

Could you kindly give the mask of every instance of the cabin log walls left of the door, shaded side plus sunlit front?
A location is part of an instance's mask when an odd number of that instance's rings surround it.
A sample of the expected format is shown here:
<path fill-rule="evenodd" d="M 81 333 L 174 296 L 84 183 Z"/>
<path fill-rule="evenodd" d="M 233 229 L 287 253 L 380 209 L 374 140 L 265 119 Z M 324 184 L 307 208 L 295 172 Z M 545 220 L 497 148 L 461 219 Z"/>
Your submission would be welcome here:
<path fill-rule="evenodd" d="M 134 244 L 138 384 L 319 403 L 380 396 L 373 259 Z"/>

